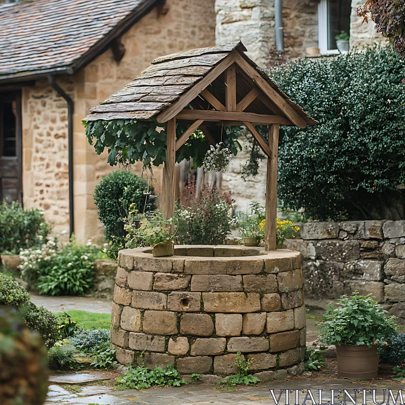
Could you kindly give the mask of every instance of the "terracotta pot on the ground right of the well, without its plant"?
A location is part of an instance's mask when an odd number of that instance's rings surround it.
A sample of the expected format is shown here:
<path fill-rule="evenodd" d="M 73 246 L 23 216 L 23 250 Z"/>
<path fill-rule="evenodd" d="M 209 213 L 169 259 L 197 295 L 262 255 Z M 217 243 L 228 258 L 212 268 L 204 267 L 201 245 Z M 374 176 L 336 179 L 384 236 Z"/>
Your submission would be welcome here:
<path fill-rule="evenodd" d="M 377 378 L 380 355 L 377 346 L 337 345 L 338 377 L 354 380 Z"/>

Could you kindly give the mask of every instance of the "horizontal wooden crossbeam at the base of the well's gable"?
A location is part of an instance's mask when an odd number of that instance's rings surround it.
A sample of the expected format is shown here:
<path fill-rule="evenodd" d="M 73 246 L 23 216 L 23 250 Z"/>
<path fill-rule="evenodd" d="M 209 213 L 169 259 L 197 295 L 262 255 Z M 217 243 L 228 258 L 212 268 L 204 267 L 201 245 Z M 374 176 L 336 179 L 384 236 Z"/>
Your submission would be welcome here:
<path fill-rule="evenodd" d="M 248 121 L 257 125 L 291 125 L 291 121 L 284 115 L 264 115 L 253 112 L 228 112 L 207 110 L 182 110 L 178 119 L 204 119 L 205 121 Z"/>

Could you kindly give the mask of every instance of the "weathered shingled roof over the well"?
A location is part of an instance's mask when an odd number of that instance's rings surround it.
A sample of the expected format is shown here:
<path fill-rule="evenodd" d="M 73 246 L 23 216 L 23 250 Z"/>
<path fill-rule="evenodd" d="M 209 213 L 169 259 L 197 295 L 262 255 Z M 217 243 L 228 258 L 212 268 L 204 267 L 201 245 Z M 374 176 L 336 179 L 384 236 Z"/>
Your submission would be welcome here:
<path fill-rule="evenodd" d="M 98 106 L 93 107 L 85 120 L 153 118 L 170 107 L 233 51 L 239 52 L 255 68 L 256 72 L 298 112 L 307 125 L 316 123 L 301 106 L 283 93 L 270 77 L 245 55 L 246 48 L 241 42 L 178 52 L 156 58 L 131 83 L 106 98 Z M 249 91 L 250 88 L 242 88 L 246 86 L 246 82 L 242 82 L 244 79 L 240 77 L 236 84 L 237 91 Z M 221 94 L 224 93 L 224 89 L 221 88 L 221 79 L 214 80 L 210 89 L 213 95 L 220 99 Z M 254 102 L 252 108 L 253 112 L 260 113 L 263 105 L 255 105 Z"/>

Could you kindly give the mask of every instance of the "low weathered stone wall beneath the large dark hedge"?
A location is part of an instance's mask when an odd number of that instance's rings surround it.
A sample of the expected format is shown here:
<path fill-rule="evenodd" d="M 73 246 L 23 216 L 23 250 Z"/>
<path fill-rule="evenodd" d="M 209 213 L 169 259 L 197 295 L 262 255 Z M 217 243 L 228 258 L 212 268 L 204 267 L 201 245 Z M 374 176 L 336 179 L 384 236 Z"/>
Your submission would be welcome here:
<path fill-rule="evenodd" d="M 301 252 L 307 305 L 373 293 L 405 320 L 405 220 L 309 222 L 284 247 Z"/>

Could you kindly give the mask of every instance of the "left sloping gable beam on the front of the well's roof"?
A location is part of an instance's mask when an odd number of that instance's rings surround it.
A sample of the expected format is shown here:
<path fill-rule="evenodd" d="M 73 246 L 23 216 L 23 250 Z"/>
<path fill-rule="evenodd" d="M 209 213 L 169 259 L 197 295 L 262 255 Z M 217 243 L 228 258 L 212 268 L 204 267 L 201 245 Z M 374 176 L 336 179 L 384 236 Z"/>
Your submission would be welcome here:
<path fill-rule="evenodd" d="M 235 61 L 237 51 L 231 52 L 224 60 L 215 66 L 207 75 L 199 80 L 190 90 L 182 94 L 165 111 L 157 115 L 159 123 L 166 123 L 169 119 L 175 117 L 190 101 L 198 96 L 209 84 L 211 84 L 222 72 L 224 72 Z"/>

